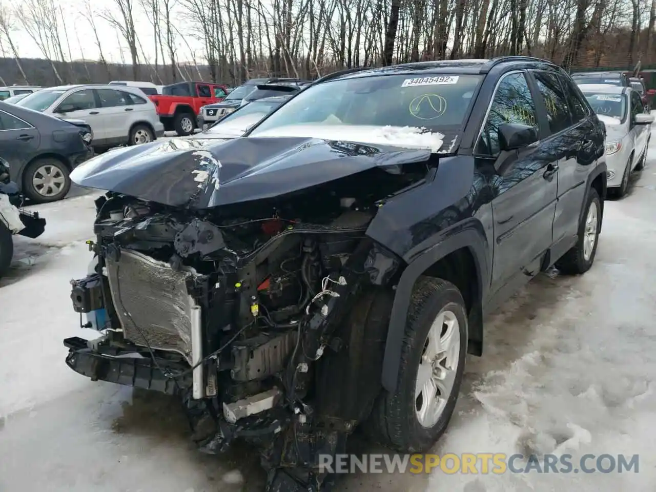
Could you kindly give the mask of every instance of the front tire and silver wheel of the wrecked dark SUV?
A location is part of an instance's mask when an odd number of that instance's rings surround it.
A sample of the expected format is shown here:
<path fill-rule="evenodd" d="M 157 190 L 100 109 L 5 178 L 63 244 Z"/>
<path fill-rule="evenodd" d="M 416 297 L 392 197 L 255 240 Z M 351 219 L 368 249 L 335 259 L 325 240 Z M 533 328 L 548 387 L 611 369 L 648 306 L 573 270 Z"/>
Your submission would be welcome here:
<path fill-rule="evenodd" d="M 450 282 L 420 277 L 408 310 L 396 391 L 382 390 L 367 430 L 401 453 L 428 451 L 445 432 L 460 392 L 467 315 Z"/>

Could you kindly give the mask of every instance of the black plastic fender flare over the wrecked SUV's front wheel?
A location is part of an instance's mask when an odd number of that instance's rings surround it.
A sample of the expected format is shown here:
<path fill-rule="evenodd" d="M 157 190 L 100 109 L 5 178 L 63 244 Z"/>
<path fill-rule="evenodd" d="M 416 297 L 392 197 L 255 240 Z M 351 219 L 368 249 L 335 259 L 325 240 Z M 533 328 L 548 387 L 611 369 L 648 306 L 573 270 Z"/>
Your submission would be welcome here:
<path fill-rule="evenodd" d="M 453 229 L 443 231 L 434 246 L 415 257 L 413 261 L 409 262 L 405 270 L 403 270 L 399 282 L 396 285 L 396 293 L 394 295 L 394 303 L 392 304 L 392 313 L 390 315 L 390 324 L 387 331 L 385 352 L 382 361 L 382 386 L 389 392 L 396 390 L 396 384 L 398 382 L 401 346 L 403 344 L 405 322 L 413 287 L 417 279 L 427 268 L 441 258 L 449 255 L 449 253 L 453 253 L 453 251 L 462 248 L 469 249 L 474 257 L 478 277 L 478 289 L 476 289 L 474 306 L 478 303 L 478 307 L 482 308 L 482 300 L 487 295 L 487 286 L 489 285 L 489 265 L 486 251 L 488 246 L 480 222 L 476 221 L 476 223 L 478 227 L 470 223 L 463 228 L 462 224 L 458 224 Z M 482 333 L 477 333 L 476 335 L 482 339 Z M 472 333 L 469 333 L 468 337 L 471 338 Z"/>

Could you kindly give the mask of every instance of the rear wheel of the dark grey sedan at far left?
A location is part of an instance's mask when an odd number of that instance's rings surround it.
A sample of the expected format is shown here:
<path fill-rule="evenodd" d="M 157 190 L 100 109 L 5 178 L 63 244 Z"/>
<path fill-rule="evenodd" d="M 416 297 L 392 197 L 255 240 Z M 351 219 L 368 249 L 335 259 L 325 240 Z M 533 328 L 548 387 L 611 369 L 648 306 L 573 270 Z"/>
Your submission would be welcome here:
<path fill-rule="evenodd" d="M 35 203 L 60 200 L 71 188 L 71 178 L 68 174 L 68 167 L 58 159 L 37 159 L 25 168 L 23 190 Z"/>

